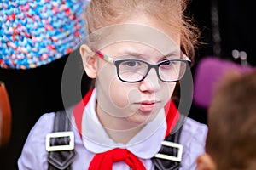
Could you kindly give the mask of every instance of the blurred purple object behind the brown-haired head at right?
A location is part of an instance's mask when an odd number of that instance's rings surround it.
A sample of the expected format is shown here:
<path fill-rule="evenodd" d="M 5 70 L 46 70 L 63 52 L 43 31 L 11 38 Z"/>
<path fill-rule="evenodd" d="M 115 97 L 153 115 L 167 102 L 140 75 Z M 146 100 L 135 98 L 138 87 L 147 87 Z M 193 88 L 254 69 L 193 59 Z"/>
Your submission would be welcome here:
<path fill-rule="evenodd" d="M 206 109 L 211 105 L 214 89 L 227 71 L 247 73 L 253 71 L 253 67 L 243 67 L 231 61 L 218 59 L 216 57 L 201 59 L 195 71 L 195 105 Z"/>

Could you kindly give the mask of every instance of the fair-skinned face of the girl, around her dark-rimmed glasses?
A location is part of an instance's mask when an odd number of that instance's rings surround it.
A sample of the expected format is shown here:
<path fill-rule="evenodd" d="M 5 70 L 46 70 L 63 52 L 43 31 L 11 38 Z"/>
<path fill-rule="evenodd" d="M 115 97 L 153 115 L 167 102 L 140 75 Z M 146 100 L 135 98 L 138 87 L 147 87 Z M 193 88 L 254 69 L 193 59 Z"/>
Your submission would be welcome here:
<path fill-rule="evenodd" d="M 164 59 L 180 58 L 179 37 L 166 31 L 160 23 L 147 16 L 131 18 L 127 23 L 140 26 L 131 26 L 130 31 L 115 28 L 111 36 L 108 35 L 112 40 L 102 42 L 105 45 L 97 50 L 113 59 L 142 59 L 149 64 L 156 64 Z M 150 31 L 141 29 L 141 25 L 150 26 Z M 132 29 L 134 30 L 131 31 Z M 124 41 L 120 41 L 122 37 Z M 131 37 L 131 40 L 127 37 Z M 169 58 L 166 58 L 166 54 L 170 55 Z M 141 82 L 122 82 L 116 66 L 98 56 L 96 72 L 96 112 L 100 120 L 101 117 L 105 117 L 101 120 L 103 124 L 108 121 L 111 123 L 113 119 L 128 127 L 151 122 L 171 99 L 176 85 L 175 82 L 162 82 L 154 68 L 149 70 L 147 77 Z M 109 120 L 106 120 L 106 117 Z"/>

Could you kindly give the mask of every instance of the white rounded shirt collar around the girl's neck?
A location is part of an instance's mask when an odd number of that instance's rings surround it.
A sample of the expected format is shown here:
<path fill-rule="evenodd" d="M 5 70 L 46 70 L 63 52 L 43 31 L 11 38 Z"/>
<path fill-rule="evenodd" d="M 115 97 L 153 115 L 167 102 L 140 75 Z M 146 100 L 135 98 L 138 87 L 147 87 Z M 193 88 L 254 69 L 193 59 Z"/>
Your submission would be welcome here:
<path fill-rule="evenodd" d="M 102 153 L 114 148 L 125 148 L 143 159 L 153 157 L 161 147 L 165 138 L 166 116 L 164 109 L 149 122 L 127 144 L 115 143 L 108 137 L 96 116 L 96 90 L 91 94 L 82 116 L 82 139 L 84 147 L 93 153 Z"/>

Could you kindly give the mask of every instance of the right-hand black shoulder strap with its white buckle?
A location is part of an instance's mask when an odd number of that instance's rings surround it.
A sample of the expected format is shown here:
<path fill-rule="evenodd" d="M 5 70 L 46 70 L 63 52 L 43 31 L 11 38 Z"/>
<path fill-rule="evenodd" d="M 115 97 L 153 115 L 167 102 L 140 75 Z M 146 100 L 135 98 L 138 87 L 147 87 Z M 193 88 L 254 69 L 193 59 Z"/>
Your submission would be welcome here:
<path fill-rule="evenodd" d="M 157 155 L 152 158 L 156 170 L 177 170 L 182 159 L 183 145 L 178 144 L 182 127 L 174 134 L 169 134 L 162 142 L 162 147 Z"/>

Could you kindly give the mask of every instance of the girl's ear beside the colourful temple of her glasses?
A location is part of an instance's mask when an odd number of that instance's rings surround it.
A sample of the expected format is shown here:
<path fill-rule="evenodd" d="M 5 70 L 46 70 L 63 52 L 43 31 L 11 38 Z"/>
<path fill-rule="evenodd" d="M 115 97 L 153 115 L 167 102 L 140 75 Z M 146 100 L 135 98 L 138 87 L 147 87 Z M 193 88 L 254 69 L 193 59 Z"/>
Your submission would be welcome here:
<path fill-rule="evenodd" d="M 80 47 L 80 54 L 83 60 L 84 71 L 90 78 L 97 76 L 97 60 L 92 50 L 85 44 Z"/>

